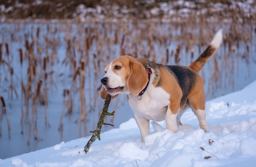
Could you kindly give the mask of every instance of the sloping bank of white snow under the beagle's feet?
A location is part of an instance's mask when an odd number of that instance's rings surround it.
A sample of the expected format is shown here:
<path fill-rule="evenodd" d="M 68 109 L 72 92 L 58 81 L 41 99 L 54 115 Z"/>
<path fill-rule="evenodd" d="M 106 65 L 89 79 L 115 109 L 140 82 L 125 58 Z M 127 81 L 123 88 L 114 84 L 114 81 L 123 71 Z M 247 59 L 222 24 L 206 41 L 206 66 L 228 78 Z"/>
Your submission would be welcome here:
<path fill-rule="evenodd" d="M 113 100 L 112 102 L 115 102 Z M 133 118 L 117 129 L 101 134 L 88 154 L 83 147 L 89 137 L 62 142 L 28 154 L 0 160 L 1 167 L 252 167 L 256 163 L 256 81 L 207 102 L 211 132 L 199 128 L 193 112 L 182 117 L 184 125 L 174 134 L 158 122 L 141 143 Z M 20 146 L 22 149 L 23 146 Z M 4 151 L 1 148 L 1 151 Z M 80 154 L 79 154 L 79 151 Z"/>

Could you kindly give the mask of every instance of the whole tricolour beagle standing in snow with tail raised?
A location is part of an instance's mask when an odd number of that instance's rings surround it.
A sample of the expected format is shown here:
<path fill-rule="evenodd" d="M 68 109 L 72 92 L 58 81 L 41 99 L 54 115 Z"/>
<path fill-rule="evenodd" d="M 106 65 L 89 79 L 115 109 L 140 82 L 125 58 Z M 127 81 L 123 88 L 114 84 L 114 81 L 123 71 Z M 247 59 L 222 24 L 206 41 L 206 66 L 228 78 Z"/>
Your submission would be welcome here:
<path fill-rule="evenodd" d="M 208 132 L 204 81 L 198 72 L 213 56 L 222 41 L 219 30 L 206 50 L 189 67 L 161 65 L 144 58 L 121 56 L 111 61 L 101 79 L 101 98 L 127 94 L 141 133 L 149 134 L 149 120 L 166 121 L 166 128 L 178 132 L 186 106 L 197 116 L 200 128 Z M 182 125 L 180 123 L 180 125 Z"/>

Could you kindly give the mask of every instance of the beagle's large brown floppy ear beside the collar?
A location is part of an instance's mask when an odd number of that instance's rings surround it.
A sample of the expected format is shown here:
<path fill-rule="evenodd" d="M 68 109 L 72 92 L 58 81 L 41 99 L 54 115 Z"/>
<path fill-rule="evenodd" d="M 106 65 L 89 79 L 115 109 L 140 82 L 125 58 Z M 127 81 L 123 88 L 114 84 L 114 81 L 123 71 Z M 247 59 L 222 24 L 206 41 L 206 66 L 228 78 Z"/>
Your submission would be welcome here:
<path fill-rule="evenodd" d="M 127 80 L 127 87 L 132 95 L 137 96 L 146 87 L 148 75 L 144 66 L 137 61 L 130 62 L 130 68 L 131 74 Z"/>

